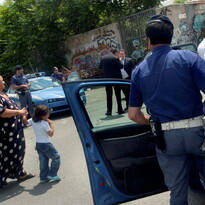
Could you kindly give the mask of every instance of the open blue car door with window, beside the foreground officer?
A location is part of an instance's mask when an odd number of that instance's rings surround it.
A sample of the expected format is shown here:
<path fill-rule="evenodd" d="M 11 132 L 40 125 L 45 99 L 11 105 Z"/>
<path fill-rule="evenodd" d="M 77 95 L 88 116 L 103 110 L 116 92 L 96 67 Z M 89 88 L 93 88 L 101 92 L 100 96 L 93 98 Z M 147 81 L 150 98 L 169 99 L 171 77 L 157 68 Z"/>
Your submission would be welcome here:
<path fill-rule="evenodd" d="M 166 191 L 150 127 L 132 122 L 127 112 L 117 113 L 114 89 L 112 115 L 105 115 L 108 85 L 121 89 L 125 108 L 123 92 L 129 92 L 128 81 L 63 84 L 84 149 L 94 204 L 118 204 Z M 86 100 L 82 100 L 82 89 Z"/>

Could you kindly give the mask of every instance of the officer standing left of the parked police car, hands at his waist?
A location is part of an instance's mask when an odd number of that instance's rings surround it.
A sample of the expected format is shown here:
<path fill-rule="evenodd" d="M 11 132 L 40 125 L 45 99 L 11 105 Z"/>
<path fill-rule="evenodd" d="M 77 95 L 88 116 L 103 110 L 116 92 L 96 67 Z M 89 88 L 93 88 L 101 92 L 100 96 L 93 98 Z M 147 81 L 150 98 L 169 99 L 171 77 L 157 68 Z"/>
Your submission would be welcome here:
<path fill-rule="evenodd" d="M 23 73 L 23 67 L 21 65 L 16 66 L 16 74 L 11 78 L 12 88 L 16 90 L 21 108 L 27 108 L 30 116 L 33 115 L 32 97 L 29 91 L 31 83 L 28 81 Z"/>

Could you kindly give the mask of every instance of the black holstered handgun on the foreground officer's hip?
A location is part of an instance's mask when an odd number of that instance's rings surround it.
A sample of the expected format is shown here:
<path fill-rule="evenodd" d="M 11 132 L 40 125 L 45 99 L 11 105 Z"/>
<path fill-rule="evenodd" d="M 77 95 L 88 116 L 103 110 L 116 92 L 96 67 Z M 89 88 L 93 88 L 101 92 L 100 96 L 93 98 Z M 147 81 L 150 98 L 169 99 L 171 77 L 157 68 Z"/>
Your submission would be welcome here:
<path fill-rule="evenodd" d="M 162 130 L 160 121 L 151 119 L 150 126 L 152 129 L 152 133 L 155 137 L 157 148 L 164 152 L 166 150 L 166 143 L 165 143 L 164 132 Z"/>

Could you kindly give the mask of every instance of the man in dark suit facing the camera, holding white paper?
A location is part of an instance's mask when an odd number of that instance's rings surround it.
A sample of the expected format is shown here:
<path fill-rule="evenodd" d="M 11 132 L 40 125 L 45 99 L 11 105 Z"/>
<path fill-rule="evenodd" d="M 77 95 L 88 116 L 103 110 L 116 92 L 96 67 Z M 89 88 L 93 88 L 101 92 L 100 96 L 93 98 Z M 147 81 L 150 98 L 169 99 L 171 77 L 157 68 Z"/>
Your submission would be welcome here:
<path fill-rule="evenodd" d="M 131 80 L 132 70 L 135 67 L 134 62 L 132 61 L 131 58 L 126 57 L 125 50 L 123 50 L 123 49 L 120 50 L 120 52 L 119 52 L 119 60 L 123 66 L 123 68 L 121 69 L 122 78 L 127 79 L 127 80 Z M 125 111 L 127 111 L 128 110 L 128 103 L 129 103 L 130 87 L 129 86 L 122 87 L 122 91 L 125 95 L 125 100 L 126 100 Z"/>

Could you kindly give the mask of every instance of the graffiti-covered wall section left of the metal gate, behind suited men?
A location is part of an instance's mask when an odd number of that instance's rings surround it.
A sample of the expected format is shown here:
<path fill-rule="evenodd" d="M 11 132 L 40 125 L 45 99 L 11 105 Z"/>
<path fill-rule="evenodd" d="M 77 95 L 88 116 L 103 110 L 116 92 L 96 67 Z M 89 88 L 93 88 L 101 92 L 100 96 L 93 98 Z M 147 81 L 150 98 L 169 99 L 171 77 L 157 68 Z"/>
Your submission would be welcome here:
<path fill-rule="evenodd" d="M 101 74 L 98 68 L 102 56 L 112 48 L 120 49 L 121 40 L 117 24 L 70 37 L 66 41 L 69 67 L 76 69 L 81 78 L 91 78 Z"/>

